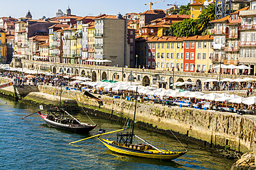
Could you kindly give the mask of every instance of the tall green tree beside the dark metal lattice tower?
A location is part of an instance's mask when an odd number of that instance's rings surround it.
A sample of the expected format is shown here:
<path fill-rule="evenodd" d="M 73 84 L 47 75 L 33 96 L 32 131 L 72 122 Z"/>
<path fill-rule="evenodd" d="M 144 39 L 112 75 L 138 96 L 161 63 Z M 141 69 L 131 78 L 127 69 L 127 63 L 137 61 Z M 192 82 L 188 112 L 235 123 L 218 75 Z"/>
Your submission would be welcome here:
<path fill-rule="evenodd" d="M 209 5 L 207 8 L 203 9 L 201 14 L 197 19 L 198 29 L 200 32 L 205 32 L 205 30 L 210 26 L 210 21 L 215 18 L 215 6 L 214 4 Z"/>

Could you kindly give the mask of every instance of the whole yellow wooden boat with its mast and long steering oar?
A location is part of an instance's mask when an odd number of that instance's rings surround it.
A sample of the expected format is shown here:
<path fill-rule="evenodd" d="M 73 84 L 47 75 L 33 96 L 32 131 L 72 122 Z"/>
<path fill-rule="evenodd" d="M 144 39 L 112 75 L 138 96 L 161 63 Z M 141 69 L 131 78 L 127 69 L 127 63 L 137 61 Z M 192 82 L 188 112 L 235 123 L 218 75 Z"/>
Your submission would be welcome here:
<path fill-rule="evenodd" d="M 137 93 L 136 93 L 137 94 Z M 137 98 L 137 96 L 136 96 Z M 135 111 L 134 111 L 134 121 L 135 121 L 135 114 L 136 114 L 136 104 L 137 100 L 135 102 Z M 102 138 L 101 136 L 106 134 L 112 134 L 114 132 L 118 131 L 124 131 L 125 129 L 119 129 L 116 131 L 110 131 L 105 132 L 104 129 L 100 129 L 98 132 L 98 135 L 91 136 L 89 138 L 93 138 L 98 136 L 98 139 L 100 142 L 102 142 L 110 151 L 113 151 L 115 153 L 119 153 L 122 155 L 128 155 L 128 156 L 136 156 L 136 157 L 142 157 L 142 158 L 153 158 L 153 159 L 160 159 L 160 160 L 173 160 L 175 158 L 179 158 L 180 156 L 183 156 L 185 153 L 188 152 L 187 149 L 185 151 L 180 152 L 174 152 L 174 151 L 166 151 L 163 149 L 158 149 L 154 145 L 151 145 L 146 140 L 143 140 L 143 138 L 140 138 L 139 136 L 136 136 L 134 134 L 134 121 L 132 125 L 132 131 L 127 133 L 118 133 L 116 141 L 113 140 L 106 140 Z M 139 140 L 141 140 L 143 143 L 134 144 L 133 138 L 136 137 Z M 84 138 L 82 140 L 87 140 L 89 138 Z M 80 142 L 82 140 L 77 140 L 75 142 Z M 71 142 L 70 144 L 73 144 L 75 142 Z"/>

